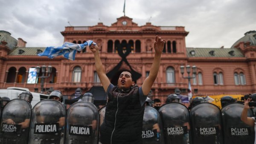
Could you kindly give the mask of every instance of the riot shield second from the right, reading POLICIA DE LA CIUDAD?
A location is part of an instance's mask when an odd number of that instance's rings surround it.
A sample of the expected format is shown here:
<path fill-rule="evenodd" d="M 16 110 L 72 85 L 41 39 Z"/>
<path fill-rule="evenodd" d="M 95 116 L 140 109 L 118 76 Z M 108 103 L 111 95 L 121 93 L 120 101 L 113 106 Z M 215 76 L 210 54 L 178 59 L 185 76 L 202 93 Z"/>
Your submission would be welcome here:
<path fill-rule="evenodd" d="M 221 111 L 211 103 L 200 103 L 189 112 L 193 144 L 223 144 Z"/>

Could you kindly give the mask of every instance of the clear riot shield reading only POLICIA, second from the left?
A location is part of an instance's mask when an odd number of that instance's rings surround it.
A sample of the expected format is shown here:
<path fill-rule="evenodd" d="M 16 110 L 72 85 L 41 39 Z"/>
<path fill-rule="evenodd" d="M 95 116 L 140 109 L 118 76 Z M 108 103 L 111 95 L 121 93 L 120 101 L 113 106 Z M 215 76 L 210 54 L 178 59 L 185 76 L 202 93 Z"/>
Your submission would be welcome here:
<path fill-rule="evenodd" d="M 59 101 L 38 102 L 32 109 L 29 144 L 64 144 L 65 115 Z"/>

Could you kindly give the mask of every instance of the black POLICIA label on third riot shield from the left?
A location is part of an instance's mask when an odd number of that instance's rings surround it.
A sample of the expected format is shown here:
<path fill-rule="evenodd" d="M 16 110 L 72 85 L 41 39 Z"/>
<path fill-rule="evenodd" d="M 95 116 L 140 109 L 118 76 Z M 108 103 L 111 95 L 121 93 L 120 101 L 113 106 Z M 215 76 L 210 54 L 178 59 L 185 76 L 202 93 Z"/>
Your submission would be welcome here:
<path fill-rule="evenodd" d="M 92 126 L 69 125 L 69 134 L 77 136 L 91 136 Z"/>

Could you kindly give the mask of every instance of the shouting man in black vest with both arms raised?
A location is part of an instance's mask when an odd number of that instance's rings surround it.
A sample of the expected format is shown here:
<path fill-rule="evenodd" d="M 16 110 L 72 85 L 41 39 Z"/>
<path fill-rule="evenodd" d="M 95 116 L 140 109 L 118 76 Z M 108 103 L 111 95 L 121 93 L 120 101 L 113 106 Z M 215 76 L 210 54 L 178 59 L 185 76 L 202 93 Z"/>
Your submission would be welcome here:
<path fill-rule="evenodd" d="M 155 37 L 154 60 L 149 76 L 141 87 L 135 84 L 128 71 L 120 74 L 117 86 L 112 85 L 102 65 L 98 46 L 90 46 L 90 51 L 94 54 L 96 71 L 108 94 L 105 119 L 99 129 L 102 144 L 142 144 L 145 100 L 157 77 L 164 44 L 165 41 L 161 37 Z"/>

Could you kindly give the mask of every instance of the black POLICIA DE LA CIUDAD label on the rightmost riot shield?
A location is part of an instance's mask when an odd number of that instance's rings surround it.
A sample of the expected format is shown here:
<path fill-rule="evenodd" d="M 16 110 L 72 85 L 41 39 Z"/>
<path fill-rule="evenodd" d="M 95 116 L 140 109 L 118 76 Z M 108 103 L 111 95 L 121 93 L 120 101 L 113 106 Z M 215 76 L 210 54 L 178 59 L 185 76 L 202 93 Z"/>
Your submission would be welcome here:
<path fill-rule="evenodd" d="M 250 136 L 250 127 L 230 127 L 230 136 Z"/>

